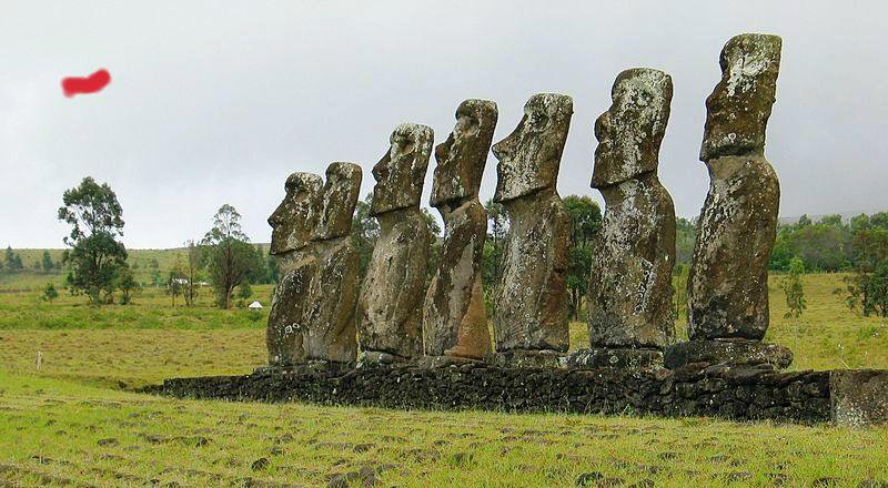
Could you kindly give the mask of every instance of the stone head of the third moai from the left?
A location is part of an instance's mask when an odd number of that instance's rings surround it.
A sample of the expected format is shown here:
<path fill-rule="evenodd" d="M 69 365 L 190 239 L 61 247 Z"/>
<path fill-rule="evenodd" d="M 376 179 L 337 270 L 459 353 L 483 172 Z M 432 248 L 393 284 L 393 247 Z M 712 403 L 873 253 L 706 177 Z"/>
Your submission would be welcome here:
<path fill-rule="evenodd" d="M 404 123 L 395 128 L 389 152 L 373 166 L 376 185 L 371 215 L 420 205 L 433 139 L 434 132 L 425 125 Z"/>

